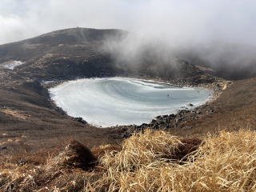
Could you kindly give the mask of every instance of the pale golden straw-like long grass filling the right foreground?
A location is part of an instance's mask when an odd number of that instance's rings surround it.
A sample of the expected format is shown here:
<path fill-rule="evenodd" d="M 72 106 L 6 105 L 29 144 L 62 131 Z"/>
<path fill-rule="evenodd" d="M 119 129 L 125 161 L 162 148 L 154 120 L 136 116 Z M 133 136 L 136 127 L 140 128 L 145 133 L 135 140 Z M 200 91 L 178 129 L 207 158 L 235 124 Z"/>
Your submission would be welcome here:
<path fill-rule="evenodd" d="M 102 157 L 106 174 L 86 190 L 256 191 L 255 131 L 222 131 L 209 136 L 184 164 L 161 158 L 174 152 L 181 142 L 162 131 L 135 134 L 118 154 Z"/>

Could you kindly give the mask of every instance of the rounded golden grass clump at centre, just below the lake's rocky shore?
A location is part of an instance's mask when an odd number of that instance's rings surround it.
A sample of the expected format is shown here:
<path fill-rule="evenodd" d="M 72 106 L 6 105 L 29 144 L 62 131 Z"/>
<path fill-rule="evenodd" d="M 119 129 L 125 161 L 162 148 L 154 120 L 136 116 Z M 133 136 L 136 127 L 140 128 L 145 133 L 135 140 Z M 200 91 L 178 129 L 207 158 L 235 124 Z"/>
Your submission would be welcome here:
<path fill-rule="evenodd" d="M 134 171 L 151 163 L 165 163 L 175 159 L 175 152 L 182 142 L 164 131 L 146 130 L 134 134 L 122 144 L 118 153 L 107 153 L 101 158 L 104 167 L 118 171 Z"/>

